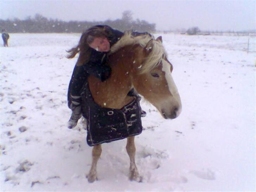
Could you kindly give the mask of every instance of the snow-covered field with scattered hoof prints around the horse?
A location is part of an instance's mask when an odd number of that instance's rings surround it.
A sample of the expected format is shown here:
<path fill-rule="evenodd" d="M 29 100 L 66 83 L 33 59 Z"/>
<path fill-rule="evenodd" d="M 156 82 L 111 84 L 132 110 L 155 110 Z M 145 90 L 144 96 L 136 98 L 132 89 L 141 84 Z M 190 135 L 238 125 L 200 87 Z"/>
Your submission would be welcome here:
<path fill-rule="evenodd" d="M 158 35 L 155 34 L 155 37 Z M 10 34 L 0 47 L 0 191 L 256 191 L 256 39 L 162 34 L 183 111 L 147 116 L 136 136 L 143 182 L 128 180 L 126 140 L 103 144 L 88 183 L 85 130 L 66 127 L 80 34 Z"/>

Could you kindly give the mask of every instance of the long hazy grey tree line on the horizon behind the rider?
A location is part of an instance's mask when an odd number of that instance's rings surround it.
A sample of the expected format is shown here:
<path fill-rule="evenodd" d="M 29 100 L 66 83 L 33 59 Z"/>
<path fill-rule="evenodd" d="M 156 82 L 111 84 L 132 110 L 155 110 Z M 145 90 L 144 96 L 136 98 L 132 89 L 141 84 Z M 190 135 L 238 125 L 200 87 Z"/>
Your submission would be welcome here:
<path fill-rule="evenodd" d="M 41 14 L 24 20 L 0 19 L 0 29 L 8 33 L 82 33 L 94 25 L 109 25 L 120 31 L 135 30 L 139 32 L 155 32 L 155 24 L 145 20 L 133 20 L 132 12 L 124 11 L 121 19 L 106 21 L 62 21 L 47 19 Z"/>

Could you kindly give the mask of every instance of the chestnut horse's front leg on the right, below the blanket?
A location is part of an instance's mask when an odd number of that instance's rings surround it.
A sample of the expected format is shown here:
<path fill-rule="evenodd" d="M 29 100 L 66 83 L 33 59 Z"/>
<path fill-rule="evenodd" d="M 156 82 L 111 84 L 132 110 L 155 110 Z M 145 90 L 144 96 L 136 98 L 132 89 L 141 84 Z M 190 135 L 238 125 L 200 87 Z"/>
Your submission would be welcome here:
<path fill-rule="evenodd" d="M 136 148 L 135 148 L 134 139 L 135 139 L 135 136 L 127 137 L 126 151 L 130 158 L 129 179 L 131 181 L 142 182 L 142 177 L 139 175 L 138 169 L 135 164 Z"/>

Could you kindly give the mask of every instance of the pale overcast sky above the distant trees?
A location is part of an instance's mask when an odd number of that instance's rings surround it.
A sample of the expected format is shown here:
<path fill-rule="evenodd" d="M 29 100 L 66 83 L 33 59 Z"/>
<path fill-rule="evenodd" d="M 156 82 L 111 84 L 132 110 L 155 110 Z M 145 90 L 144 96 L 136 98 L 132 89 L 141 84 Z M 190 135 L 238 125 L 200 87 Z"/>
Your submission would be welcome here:
<path fill-rule="evenodd" d="M 0 0 L 0 19 L 25 19 L 36 13 L 64 21 L 133 19 L 155 23 L 157 30 L 198 26 L 201 30 L 241 31 L 256 28 L 256 0 Z"/>

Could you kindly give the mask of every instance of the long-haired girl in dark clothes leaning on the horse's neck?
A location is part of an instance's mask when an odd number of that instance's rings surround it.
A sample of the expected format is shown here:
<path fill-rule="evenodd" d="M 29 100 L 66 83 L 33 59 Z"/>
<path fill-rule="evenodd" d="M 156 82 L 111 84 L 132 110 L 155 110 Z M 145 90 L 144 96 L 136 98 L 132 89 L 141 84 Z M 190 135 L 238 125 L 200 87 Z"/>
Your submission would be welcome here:
<path fill-rule="evenodd" d="M 106 53 L 110 50 L 122 36 L 123 32 L 114 30 L 107 25 L 96 25 L 85 31 L 79 44 L 69 50 L 68 58 L 73 58 L 78 52 L 76 66 L 69 83 L 68 107 L 72 110 L 72 115 L 68 122 L 68 128 L 76 126 L 81 114 L 81 89 L 87 81 L 89 75 L 94 75 L 101 81 L 105 81 L 111 74 L 111 68 L 107 62 Z M 135 35 L 139 35 L 136 33 Z M 146 112 L 142 112 L 146 116 Z"/>

